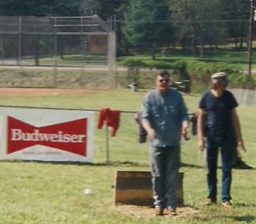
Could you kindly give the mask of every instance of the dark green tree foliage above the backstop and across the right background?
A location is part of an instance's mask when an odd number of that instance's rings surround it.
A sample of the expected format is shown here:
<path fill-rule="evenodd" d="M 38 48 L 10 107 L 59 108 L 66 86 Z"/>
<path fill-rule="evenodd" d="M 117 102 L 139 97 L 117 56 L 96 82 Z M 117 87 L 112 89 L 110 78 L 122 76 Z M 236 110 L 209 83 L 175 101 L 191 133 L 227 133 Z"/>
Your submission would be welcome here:
<path fill-rule="evenodd" d="M 119 20 L 115 26 L 118 49 L 126 53 L 129 47 L 141 51 L 151 49 L 153 57 L 157 49 L 168 49 L 170 43 L 173 47 L 182 47 L 184 52 L 193 51 L 194 56 L 199 57 L 204 57 L 205 46 L 218 49 L 230 41 L 241 50 L 248 42 L 249 13 L 249 0 L 0 1 L 2 16 L 98 14 L 108 20 L 116 15 Z M 160 22 L 163 20 L 170 22 Z M 174 22 L 180 20 L 186 22 Z"/>

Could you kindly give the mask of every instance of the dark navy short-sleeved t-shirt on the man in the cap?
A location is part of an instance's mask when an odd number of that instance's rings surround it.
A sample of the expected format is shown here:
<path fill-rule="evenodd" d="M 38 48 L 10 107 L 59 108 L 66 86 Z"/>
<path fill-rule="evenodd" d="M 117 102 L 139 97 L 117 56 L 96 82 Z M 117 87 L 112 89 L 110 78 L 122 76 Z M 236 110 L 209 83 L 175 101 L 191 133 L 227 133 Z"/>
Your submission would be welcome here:
<path fill-rule="evenodd" d="M 214 96 L 211 91 L 204 93 L 200 100 L 199 108 L 204 109 L 206 112 L 206 131 L 218 133 L 233 132 L 232 109 L 237 106 L 236 99 L 229 91 L 224 91 L 220 97 Z"/>

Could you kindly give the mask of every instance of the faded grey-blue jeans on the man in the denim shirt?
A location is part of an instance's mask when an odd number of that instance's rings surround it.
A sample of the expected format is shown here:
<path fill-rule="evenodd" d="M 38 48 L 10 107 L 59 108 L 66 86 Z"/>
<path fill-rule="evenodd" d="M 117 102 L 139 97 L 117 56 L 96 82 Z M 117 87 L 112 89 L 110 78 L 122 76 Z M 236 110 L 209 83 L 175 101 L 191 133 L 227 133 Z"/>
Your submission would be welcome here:
<path fill-rule="evenodd" d="M 180 146 L 154 147 L 151 152 L 152 186 L 156 208 L 176 209 Z"/>

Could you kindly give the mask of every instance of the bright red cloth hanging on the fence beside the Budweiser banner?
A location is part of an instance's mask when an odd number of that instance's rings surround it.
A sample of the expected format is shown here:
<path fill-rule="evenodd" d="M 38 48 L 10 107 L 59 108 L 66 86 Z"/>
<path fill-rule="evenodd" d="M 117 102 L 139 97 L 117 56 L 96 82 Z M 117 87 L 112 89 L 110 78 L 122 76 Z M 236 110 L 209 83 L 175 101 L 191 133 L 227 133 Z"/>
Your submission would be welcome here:
<path fill-rule="evenodd" d="M 108 127 L 112 127 L 111 136 L 116 136 L 116 131 L 118 130 L 120 123 L 120 111 L 110 110 L 109 108 L 101 109 L 97 125 L 99 129 L 102 128 L 104 121 L 106 121 Z"/>

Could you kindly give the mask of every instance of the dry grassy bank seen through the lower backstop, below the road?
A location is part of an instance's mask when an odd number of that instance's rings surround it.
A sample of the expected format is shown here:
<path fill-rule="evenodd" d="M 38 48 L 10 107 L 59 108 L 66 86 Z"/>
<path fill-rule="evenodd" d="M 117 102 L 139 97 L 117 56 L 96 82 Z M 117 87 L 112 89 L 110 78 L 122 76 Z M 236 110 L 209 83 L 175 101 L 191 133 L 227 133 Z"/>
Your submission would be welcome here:
<path fill-rule="evenodd" d="M 147 75 L 146 73 L 146 77 Z M 127 86 L 125 71 L 118 71 L 116 77 L 118 83 Z M 88 71 L 80 68 L 57 70 L 58 88 L 106 89 L 108 88 L 107 80 L 108 71 Z M 147 84 L 147 81 L 145 83 Z M 0 87 L 54 87 L 54 69 L 0 69 Z"/>

